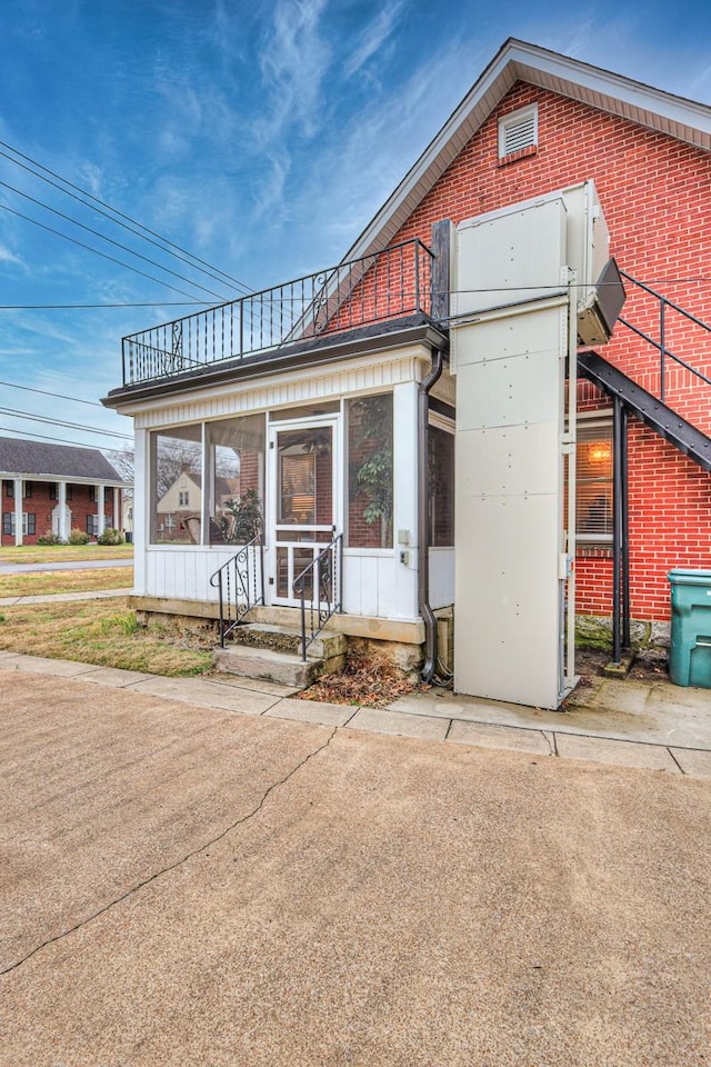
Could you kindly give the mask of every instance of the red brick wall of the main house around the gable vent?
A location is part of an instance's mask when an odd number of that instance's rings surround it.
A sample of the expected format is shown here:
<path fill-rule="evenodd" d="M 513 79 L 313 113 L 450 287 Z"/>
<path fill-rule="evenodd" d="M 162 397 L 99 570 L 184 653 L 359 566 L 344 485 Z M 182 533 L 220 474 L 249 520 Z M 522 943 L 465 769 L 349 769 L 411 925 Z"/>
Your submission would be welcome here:
<path fill-rule="evenodd" d="M 535 152 L 500 164 L 498 119 L 538 101 Z M 554 93 L 519 83 L 464 147 L 394 241 L 429 241 L 439 219 L 463 219 L 593 178 L 620 267 L 651 282 L 697 317 L 711 321 L 711 156 L 682 142 Z M 393 243 L 394 243 L 393 241 Z M 657 326 L 649 298 L 624 311 L 641 328 Z M 711 372 L 711 337 L 671 316 L 668 345 Z M 618 328 L 607 359 L 644 388 L 659 385 L 658 355 Z M 582 406 L 609 407 L 581 385 Z M 668 402 L 711 431 L 711 389 L 674 372 Z M 635 420 L 630 422 L 631 610 L 638 619 L 669 618 L 670 568 L 711 567 L 711 477 Z M 609 614 L 611 561 L 583 550 L 577 562 L 578 610 Z"/>

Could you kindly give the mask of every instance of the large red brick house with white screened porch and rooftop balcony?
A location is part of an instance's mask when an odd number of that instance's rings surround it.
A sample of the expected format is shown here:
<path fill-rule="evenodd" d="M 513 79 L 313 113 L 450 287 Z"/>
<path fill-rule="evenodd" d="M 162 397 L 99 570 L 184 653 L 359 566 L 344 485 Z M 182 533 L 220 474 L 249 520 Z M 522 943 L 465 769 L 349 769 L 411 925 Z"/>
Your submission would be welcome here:
<path fill-rule="evenodd" d="M 264 505 L 268 608 L 342 535 L 331 625 L 424 642 L 431 677 L 453 608 L 455 689 L 557 706 L 575 612 L 619 644 L 669 621 L 671 568 L 711 566 L 710 211 L 710 108 L 507 41 L 341 265 L 124 338 L 104 403 L 134 418 L 143 607 L 198 611 L 229 558 L 212 491 L 199 544 L 161 547 L 157 455 L 197 449 L 213 486 L 229 447 Z M 627 303 L 601 347 L 605 222 Z"/>

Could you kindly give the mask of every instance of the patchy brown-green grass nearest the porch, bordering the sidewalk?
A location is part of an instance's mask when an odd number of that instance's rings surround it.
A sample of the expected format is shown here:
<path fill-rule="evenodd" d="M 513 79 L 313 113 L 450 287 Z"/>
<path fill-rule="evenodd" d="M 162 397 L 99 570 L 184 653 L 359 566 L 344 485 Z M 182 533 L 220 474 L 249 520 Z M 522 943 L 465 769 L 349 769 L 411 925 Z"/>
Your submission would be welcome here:
<path fill-rule="evenodd" d="M 0 614 L 0 649 L 152 675 L 212 669 L 214 635 L 176 619 L 141 626 L 128 599 L 17 605 Z"/>

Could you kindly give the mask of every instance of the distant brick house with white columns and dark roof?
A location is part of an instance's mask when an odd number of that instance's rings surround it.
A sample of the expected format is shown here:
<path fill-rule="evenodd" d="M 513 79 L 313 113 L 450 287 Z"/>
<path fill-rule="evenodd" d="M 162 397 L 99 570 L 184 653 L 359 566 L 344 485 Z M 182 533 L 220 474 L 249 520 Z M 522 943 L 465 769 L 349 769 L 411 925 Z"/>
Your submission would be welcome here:
<path fill-rule="evenodd" d="M 72 529 L 91 537 L 120 522 L 124 481 L 96 448 L 0 438 L 0 545 L 37 545 Z"/>

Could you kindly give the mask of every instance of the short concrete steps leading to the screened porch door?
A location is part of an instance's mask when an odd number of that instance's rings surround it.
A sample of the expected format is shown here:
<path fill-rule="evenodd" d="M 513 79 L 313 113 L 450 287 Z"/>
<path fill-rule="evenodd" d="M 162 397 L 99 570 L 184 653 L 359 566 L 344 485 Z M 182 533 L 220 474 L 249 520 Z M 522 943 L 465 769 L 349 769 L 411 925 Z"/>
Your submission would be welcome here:
<path fill-rule="evenodd" d="M 301 657 L 301 629 L 271 622 L 242 622 L 231 640 L 216 651 L 218 670 L 307 689 L 322 674 L 340 670 L 346 662 L 346 638 L 322 630 Z"/>

